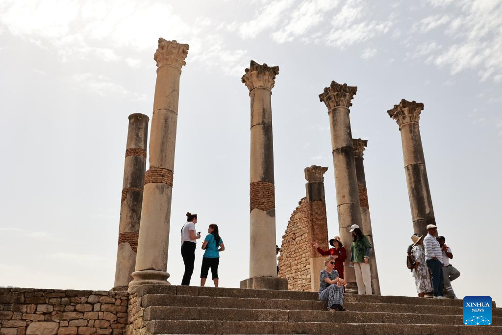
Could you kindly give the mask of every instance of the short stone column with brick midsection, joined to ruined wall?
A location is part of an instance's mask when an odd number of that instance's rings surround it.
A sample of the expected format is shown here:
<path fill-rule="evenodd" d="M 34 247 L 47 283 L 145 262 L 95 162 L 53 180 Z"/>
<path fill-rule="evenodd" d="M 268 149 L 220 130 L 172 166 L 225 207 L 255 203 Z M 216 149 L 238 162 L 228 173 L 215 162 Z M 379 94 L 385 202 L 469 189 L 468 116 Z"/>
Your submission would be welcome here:
<path fill-rule="evenodd" d="M 305 168 L 306 199 L 309 206 L 308 247 L 310 262 L 310 285 L 313 292 L 319 292 L 319 273 L 324 269 L 324 256 L 312 246 L 318 242 L 322 249 L 328 249 L 328 225 L 326 219 L 326 199 L 324 197 L 324 173 L 327 167 L 312 165 Z"/>

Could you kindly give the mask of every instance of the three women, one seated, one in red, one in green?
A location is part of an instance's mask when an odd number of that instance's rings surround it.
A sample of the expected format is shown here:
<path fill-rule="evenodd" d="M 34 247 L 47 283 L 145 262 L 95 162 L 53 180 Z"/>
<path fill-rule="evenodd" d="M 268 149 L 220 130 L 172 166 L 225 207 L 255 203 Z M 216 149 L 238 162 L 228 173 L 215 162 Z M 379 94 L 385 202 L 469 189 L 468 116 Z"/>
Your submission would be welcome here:
<path fill-rule="evenodd" d="M 349 266 L 354 267 L 357 290 L 359 294 L 371 294 L 371 271 L 369 269 L 371 244 L 358 225 L 352 225 L 349 232 L 352 233 Z M 328 310 L 330 311 L 344 311 L 346 309 L 343 307 L 343 297 L 347 283 L 343 279 L 343 262 L 347 259 L 347 252 L 338 236 L 329 240 L 329 244 L 333 248 L 323 250 L 319 248 L 317 242 L 314 243 L 318 253 L 323 256 L 329 255 L 324 259 L 326 268 L 320 273 L 319 300 L 328 301 Z"/>

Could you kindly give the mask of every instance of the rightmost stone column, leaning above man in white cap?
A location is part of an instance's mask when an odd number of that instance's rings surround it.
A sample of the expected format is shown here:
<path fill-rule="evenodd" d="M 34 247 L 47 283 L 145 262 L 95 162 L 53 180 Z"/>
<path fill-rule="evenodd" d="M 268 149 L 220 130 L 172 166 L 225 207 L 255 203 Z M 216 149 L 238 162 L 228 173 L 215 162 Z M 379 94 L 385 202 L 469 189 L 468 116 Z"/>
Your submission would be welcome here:
<path fill-rule="evenodd" d="M 394 108 L 388 110 L 387 113 L 392 119 L 396 120 L 401 131 L 413 230 L 415 233 L 425 236 L 427 234 L 427 225 L 436 225 L 436 219 L 432 208 L 431 192 L 418 124 L 422 109 L 424 109 L 423 103 L 402 99 L 399 104 L 395 104 Z"/>

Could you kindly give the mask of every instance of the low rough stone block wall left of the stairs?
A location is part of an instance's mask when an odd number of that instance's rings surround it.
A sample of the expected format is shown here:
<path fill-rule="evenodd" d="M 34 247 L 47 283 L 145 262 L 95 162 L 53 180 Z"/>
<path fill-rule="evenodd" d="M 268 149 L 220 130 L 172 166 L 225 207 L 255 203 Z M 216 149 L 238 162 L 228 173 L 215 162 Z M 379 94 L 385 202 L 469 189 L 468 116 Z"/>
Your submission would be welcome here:
<path fill-rule="evenodd" d="M 124 334 L 127 292 L 0 288 L 0 334 Z"/>

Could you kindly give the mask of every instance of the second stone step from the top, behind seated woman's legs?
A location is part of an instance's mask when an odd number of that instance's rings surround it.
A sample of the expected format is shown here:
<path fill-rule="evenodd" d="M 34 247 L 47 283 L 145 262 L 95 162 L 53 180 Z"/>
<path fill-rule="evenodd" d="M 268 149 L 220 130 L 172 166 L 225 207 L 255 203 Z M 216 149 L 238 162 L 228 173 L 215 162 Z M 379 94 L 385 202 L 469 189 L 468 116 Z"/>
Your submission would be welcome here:
<path fill-rule="evenodd" d="M 419 300 L 418 298 L 416 300 Z M 415 300 L 415 301 L 416 301 Z M 424 299 L 422 300 L 433 300 Z M 237 308 L 271 310 L 326 310 L 326 302 L 316 300 L 227 298 L 214 296 L 147 294 L 142 306 L 172 306 L 201 308 Z M 345 302 L 345 308 L 360 312 L 419 313 L 438 315 L 462 315 L 462 307 L 438 305 L 412 305 L 400 303 Z M 494 308 L 493 316 L 502 317 L 502 309 Z"/>

